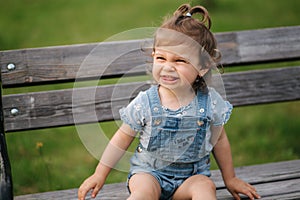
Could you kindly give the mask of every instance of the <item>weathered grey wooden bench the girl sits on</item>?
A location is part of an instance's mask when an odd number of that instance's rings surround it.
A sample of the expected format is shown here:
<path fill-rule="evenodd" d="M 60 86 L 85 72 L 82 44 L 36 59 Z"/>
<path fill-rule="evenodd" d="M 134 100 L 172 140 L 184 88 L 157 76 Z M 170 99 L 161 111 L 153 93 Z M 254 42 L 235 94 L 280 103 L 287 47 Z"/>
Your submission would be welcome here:
<path fill-rule="evenodd" d="M 280 63 L 300 59 L 300 26 L 217 33 L 224 66 Z M 142 40 L 101 44 L 83 44 L 0 52 L 2 87 L 30 87 L 78 81 L 137 76 L 147 73 L 140 51 Z M 130 49 L 133 51 L 128 52 Z M 126 52 L 127 51 L 127 52 Z M 110 63 L 113 55 L 126 53 Z M 96 53 L 91 62 L 87 55 Z M 96 55 L 95 54 L 95 55 Z M 94 60 L 93 60 L 94 59 Z M 107 65 L 110 65 L 107 68 Z M 138 66 L 138 67 L 136 67 Z M 225 73 L 223 81 L 227 99 L 234 106 L 296 101 L 300 99 L 300 66 L 276 67 Z M 126 105 L 140 90 L 149 87 L 147 81 L 96 87 L 18 93 L 2 96 L 0 199 L 12 198 L 10 164 L 5 134 L 14 131 L 74 125 L 74 112 L 82 115 L 76 123 L 92 123 L 90 106 L 96 110 L 96 121 L 114 120 L 118 109 Z M 118 89 L 118 98 L 112 93 Z M 74 105 L 73 90 L 81 90 Z M 95 90 L 94 99 L 85 94 Z M 113 105 L 113 106 L 112 106 Z M 288 120 L 288 119 L 287 119 Z M 4 134 L 5 133 L 5 134 Z M 236 168 L 237 175 L 255 185 L 263 199 L 300 199 L 300 160 Z M 219 170 L 212 172 L 218 199 L 232 199 Z M 125 183 L 105 185 L 97 199 L 126 199 Z M 76 199 L 77 189 L 51 191 L 17 196 L 15 199 Z"/>

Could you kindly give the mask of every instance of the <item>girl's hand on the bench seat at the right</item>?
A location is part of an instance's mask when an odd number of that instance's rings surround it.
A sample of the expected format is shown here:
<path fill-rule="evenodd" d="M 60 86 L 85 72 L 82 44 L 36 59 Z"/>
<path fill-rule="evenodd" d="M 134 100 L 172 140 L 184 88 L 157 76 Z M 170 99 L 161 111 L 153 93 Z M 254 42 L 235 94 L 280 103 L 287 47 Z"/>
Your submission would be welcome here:
<path fill-rule="evenodd" d="M 244 194 L 250 199 L 260 199 L 260 196 L 257 194 L 255 187 L 237 177 L 226 181 L 226 187 L 236 200 L 241 199 L 239 194 Z"/>

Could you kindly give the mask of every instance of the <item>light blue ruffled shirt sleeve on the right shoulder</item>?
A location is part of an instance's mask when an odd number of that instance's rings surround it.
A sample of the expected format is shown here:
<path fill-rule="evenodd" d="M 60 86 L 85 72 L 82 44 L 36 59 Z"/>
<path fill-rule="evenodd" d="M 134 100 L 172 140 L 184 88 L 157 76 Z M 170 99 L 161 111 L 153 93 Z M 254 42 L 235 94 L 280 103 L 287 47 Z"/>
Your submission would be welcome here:
<path fill-rule="evenodd" d="M 223 126 L 231 116 L 233 106 L 214 89 L 210 89 L 212 125 Z"/>

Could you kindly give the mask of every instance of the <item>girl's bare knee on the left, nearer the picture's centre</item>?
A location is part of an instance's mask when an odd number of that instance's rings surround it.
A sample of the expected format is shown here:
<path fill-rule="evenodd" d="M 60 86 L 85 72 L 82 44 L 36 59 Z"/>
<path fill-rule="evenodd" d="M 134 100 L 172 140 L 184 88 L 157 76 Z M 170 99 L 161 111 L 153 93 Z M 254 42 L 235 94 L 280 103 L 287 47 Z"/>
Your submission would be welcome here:
<path fill-rule="evenodd" d="M 159 199 L 161 189 L 158 181 L 147 173 L 137 173 L 129 180 L 130 196 L 128 200 Z"/>

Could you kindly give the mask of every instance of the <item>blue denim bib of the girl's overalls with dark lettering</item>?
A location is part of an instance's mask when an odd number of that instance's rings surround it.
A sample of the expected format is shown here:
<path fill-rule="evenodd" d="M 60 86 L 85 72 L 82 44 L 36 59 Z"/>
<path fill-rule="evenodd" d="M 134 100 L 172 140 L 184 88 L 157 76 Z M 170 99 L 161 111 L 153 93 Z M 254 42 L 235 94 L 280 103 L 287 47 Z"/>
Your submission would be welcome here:
<path fill-rule="evenodd" d="M 207 119 L 202 117 L 153 117 L 147 151 L 169 162 L 198 160 L 206 126 Z"/>

